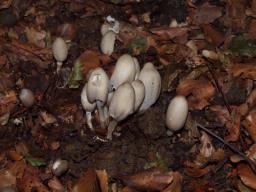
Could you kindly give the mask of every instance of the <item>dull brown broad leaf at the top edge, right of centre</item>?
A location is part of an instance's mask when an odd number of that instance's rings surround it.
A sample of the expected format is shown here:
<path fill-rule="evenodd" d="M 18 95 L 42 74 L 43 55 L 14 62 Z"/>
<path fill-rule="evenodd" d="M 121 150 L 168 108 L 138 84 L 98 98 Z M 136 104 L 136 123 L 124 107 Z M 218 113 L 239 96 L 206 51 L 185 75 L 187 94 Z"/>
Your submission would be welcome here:
<path fill-rule="evenodd" d="M 222 15 L 222 8 L 210 5 L 208 2 L 202 4 L 190 13 L 194 24 L 208 24 Z"/>

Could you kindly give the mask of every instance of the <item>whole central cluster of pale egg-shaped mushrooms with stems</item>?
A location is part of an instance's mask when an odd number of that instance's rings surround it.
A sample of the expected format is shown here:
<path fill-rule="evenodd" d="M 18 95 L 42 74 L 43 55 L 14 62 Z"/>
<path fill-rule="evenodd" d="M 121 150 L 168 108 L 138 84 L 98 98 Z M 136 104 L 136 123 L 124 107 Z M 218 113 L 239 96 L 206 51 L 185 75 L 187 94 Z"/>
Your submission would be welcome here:
<path fill-rule="evenodd" d="M 101 126 L 108 126 L 107 139 L 111 140 L 118 122 L 147 110 L 158 99 L 160 90 L 161 77 L 154 65 L 146 63 L 140 71 L 138 60 L 124 54 L 110 79 L 102 68 L 90 72 L 81 93 L 87 124 L 93 130 L 91 113 L 97 108 Z"/>

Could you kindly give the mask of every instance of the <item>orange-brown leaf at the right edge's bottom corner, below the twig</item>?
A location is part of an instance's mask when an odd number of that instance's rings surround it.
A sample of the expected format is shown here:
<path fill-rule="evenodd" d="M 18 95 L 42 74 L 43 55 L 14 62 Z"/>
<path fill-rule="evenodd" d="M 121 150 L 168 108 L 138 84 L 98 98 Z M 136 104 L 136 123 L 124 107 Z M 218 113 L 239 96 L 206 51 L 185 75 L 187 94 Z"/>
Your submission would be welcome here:
<path fill-rule="evenodd" d="M 256 189 L 256 174 L 251 170 L 249 165 L 239 164 L 237 169 L 242 182 L 246 186 Z"/>

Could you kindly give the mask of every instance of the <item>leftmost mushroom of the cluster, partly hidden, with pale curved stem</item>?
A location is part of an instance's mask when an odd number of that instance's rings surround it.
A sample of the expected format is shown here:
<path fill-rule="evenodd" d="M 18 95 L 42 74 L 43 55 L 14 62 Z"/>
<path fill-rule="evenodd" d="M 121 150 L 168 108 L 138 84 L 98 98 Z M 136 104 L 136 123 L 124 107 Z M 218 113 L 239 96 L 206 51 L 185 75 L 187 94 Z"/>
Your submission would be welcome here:
<path fill-rule="evenodd" d="M 93 125 L 92 125 L 92 112 L 96 108 L 96 103 L 95 102 L 90 103 L 88 101 L 86 87 L 87 87 L 87 84 L 85 84 L 85 86 L 83 87 L 82 93 L 81 93 L 81 103 L 85 110 L 87 125 L 92 131 L 94 131 Z"/>

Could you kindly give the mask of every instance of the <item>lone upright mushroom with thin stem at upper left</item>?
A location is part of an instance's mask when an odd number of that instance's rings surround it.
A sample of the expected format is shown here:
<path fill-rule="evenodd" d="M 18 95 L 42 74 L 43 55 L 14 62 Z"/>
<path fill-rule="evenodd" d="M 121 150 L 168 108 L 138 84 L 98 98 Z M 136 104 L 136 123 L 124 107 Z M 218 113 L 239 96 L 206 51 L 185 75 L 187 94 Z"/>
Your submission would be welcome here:
<path fill-rule="evenodd" d="M 68 56 L 68 46 L 64 39 L 57 37 L 52 44 L 52 52 L 55 60 L 57 61 L 57 73 L 59 73 L 63 61 L 67 59 Z"/>

